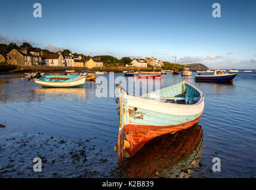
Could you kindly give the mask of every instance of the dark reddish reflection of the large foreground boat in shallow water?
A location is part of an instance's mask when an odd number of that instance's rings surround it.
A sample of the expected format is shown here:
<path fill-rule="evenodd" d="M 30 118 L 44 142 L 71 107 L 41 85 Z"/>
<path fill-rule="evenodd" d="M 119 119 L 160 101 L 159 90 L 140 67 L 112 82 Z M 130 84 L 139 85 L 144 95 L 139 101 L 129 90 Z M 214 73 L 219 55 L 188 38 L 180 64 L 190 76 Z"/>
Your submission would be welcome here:
<path fill-rule="evenodd" d="M 203 130 L 196 124 L 156 137 L 125 160 L 121 178 L 189 178 L 202 154 Z"/>

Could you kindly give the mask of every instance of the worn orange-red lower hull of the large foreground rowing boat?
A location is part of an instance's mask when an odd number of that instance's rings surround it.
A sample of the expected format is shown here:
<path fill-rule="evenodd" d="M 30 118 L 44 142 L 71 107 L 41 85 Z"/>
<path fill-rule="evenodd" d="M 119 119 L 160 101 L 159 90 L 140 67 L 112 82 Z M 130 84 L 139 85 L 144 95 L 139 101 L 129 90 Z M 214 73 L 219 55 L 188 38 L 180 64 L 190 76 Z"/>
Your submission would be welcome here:
<path fill-rule="evenodd" d="M 199 122 L 199 120 L 201 119 L 201 116 L 199 116 L 199 118 L 193 121 L 190 121 L 181 125 L 170 125 L 170 126 L 132 125 L 132 124 L 125 125 L 124 126 L 125 134 L 126 134 L 127 140 L 131 144 L 131 147 L 127 148 L 126 151 L 128 152 L 130 157 L 134 156 L 134 154 L 137 153 L 137 151 L 140 150 L 140 148 L 142 148 L 144 144 L 146 144 L 149 140 L 152 140 L 153 138 L 164 135 L 164 134 L 190 128 L 191 126 Z"/>

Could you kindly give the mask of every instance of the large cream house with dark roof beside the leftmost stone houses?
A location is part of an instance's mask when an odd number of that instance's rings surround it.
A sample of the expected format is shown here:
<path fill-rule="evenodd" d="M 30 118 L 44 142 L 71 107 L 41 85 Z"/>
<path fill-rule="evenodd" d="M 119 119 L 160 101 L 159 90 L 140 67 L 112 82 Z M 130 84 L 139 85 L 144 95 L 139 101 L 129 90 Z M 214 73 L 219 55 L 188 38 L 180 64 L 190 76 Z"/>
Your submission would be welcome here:
<path fill-rule="evenodd" d="M 42 64 L 47 66 L 65 66 L 65 60 L 60 54 L 45 54 L 42 56 Z"/>

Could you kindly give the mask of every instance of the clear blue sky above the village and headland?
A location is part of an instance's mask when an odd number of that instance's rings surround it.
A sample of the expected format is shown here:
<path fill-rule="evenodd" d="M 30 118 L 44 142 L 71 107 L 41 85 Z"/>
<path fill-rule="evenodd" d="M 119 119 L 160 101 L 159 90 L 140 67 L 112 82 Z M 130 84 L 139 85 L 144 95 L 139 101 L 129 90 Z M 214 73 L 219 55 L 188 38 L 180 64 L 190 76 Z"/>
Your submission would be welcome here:
<path fill-rule="evenodd" d="M 33 17 L 33 4 L 42 18 Z M 212 4 L 221 18 L 212 17 Z M 27 41 L 117 58 L 153 56 L 212 69 L 256 69 L 256 1 L 4 1 L 0 43 Z"/>

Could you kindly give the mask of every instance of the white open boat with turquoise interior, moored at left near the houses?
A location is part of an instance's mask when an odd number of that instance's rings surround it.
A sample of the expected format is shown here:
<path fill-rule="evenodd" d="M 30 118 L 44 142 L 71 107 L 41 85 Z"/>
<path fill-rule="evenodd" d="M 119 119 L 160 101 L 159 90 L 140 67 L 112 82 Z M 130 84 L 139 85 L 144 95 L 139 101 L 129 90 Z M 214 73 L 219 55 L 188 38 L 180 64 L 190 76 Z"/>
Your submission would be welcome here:
<path fill-rule="evenodd" d="M 44 87 L 79 87 L 84 85 L 86 76 L 74 75 L 46 75 L 35 79 L 36 84 Z"/>

